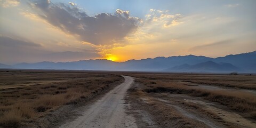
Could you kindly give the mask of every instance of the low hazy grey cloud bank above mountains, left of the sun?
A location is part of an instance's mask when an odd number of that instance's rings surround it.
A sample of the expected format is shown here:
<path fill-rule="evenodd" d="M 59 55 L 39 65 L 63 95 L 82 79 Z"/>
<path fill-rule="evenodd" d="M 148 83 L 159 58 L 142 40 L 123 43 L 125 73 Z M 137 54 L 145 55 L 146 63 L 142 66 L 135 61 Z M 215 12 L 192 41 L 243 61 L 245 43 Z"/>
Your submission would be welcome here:
<path fill-rule="evenodd" d="M 77 61 L 99 58 L 95 50 L 50 51 L 39 44 L 6 36 L 0 36 L 0 62 L 41 62 L 41 61 Z"/>

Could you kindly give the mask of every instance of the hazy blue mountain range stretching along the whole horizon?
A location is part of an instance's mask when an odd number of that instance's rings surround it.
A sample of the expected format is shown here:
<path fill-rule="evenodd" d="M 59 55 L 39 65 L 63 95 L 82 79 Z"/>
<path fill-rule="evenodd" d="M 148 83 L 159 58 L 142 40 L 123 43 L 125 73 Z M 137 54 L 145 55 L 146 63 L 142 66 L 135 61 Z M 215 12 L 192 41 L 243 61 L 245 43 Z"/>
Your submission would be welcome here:
<path fill-rule="evenodd" d="M 156 57 L 141 60 L 114 62 L 106 59 L 80 60 L 73 62 L 37 62 L 4 65 L 0 68 L 15 69 L 70 69 L 70 70 L 123 70 L 123 71 L 165 71 L 165 72 L 210 72 L 256 73 L 256 51 L 226 57 L 209 58 L 196 55 Z"/>

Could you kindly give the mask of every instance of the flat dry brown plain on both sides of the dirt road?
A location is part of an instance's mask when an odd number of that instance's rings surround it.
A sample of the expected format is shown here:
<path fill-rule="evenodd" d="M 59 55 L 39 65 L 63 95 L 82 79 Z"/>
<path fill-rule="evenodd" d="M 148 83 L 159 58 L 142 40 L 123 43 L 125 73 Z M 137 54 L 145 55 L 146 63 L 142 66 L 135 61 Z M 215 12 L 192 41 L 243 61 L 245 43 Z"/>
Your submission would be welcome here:
<path fill-rule="evenodd" d="M 124 82 L 121 75 L 134 78 L 120 99 L 125 113 L 135 118 L 134 126 L 256 126 L 255 75 L 0 70 L 0 127 L 70 123 L 78 118 L 72 110 L 85 113 L 104 94 L 121 97 L 116 91 Z"/>

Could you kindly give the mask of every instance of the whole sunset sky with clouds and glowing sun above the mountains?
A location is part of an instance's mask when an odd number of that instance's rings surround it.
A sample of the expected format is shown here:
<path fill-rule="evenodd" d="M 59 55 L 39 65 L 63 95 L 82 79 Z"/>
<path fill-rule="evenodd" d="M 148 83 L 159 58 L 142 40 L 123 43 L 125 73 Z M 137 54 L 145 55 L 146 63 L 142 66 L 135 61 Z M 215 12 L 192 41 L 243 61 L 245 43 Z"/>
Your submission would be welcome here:
<path fill-rule="evenodd" d="M 0 63 L 256 50 L 255 0 L 0 0 Z"/>

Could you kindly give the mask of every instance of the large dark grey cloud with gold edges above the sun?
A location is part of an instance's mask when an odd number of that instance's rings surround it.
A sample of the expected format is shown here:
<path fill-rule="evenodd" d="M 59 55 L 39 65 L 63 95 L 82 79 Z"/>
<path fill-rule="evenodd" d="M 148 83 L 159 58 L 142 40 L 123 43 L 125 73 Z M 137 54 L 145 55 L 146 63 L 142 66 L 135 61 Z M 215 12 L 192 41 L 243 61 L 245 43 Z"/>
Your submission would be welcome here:
<path fill-rule="evenodd" d="M 51 25 L 68 34 L 79 35 L 82 41 L 95 45 L 111 44 L 138 28 L 140 19 L 130 17 L 128 11 L 101 13 L 90 17 L 76 6 L 53 4 L 47 0 L 33 1 L 32 9 Z"/>

